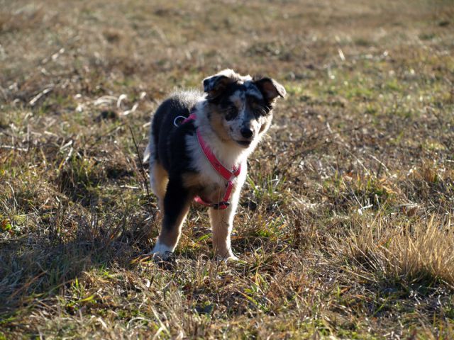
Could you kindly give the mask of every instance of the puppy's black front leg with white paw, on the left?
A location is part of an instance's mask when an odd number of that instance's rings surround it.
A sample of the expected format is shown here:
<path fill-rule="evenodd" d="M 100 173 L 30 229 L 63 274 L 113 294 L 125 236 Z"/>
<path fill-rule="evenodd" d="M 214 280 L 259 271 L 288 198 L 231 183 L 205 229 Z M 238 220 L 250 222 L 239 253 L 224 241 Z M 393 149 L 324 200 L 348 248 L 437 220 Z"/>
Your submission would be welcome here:
<path fill-rule="evenodd" d="M 166 256 L 178 244 L 184 219 L 189 211 L 189 191 L 182 186 L 180 179 L 170 179 L 164 197 L 164 218 L 157 242 L 151 251 L 152 254 Z"/>

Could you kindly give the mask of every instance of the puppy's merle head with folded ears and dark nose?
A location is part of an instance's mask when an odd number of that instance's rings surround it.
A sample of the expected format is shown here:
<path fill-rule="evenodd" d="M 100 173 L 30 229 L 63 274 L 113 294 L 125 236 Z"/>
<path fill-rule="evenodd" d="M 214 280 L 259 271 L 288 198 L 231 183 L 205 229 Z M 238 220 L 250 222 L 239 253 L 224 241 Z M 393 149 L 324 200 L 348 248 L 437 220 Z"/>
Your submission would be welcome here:
<path fill-rule="evenodd" d="M 204 79 L 208 118 L 218 137 L 249 147 L 270 127 L 277 97 L 284 86 L 267 77 L 242 77 L 231 69 Z"/>

